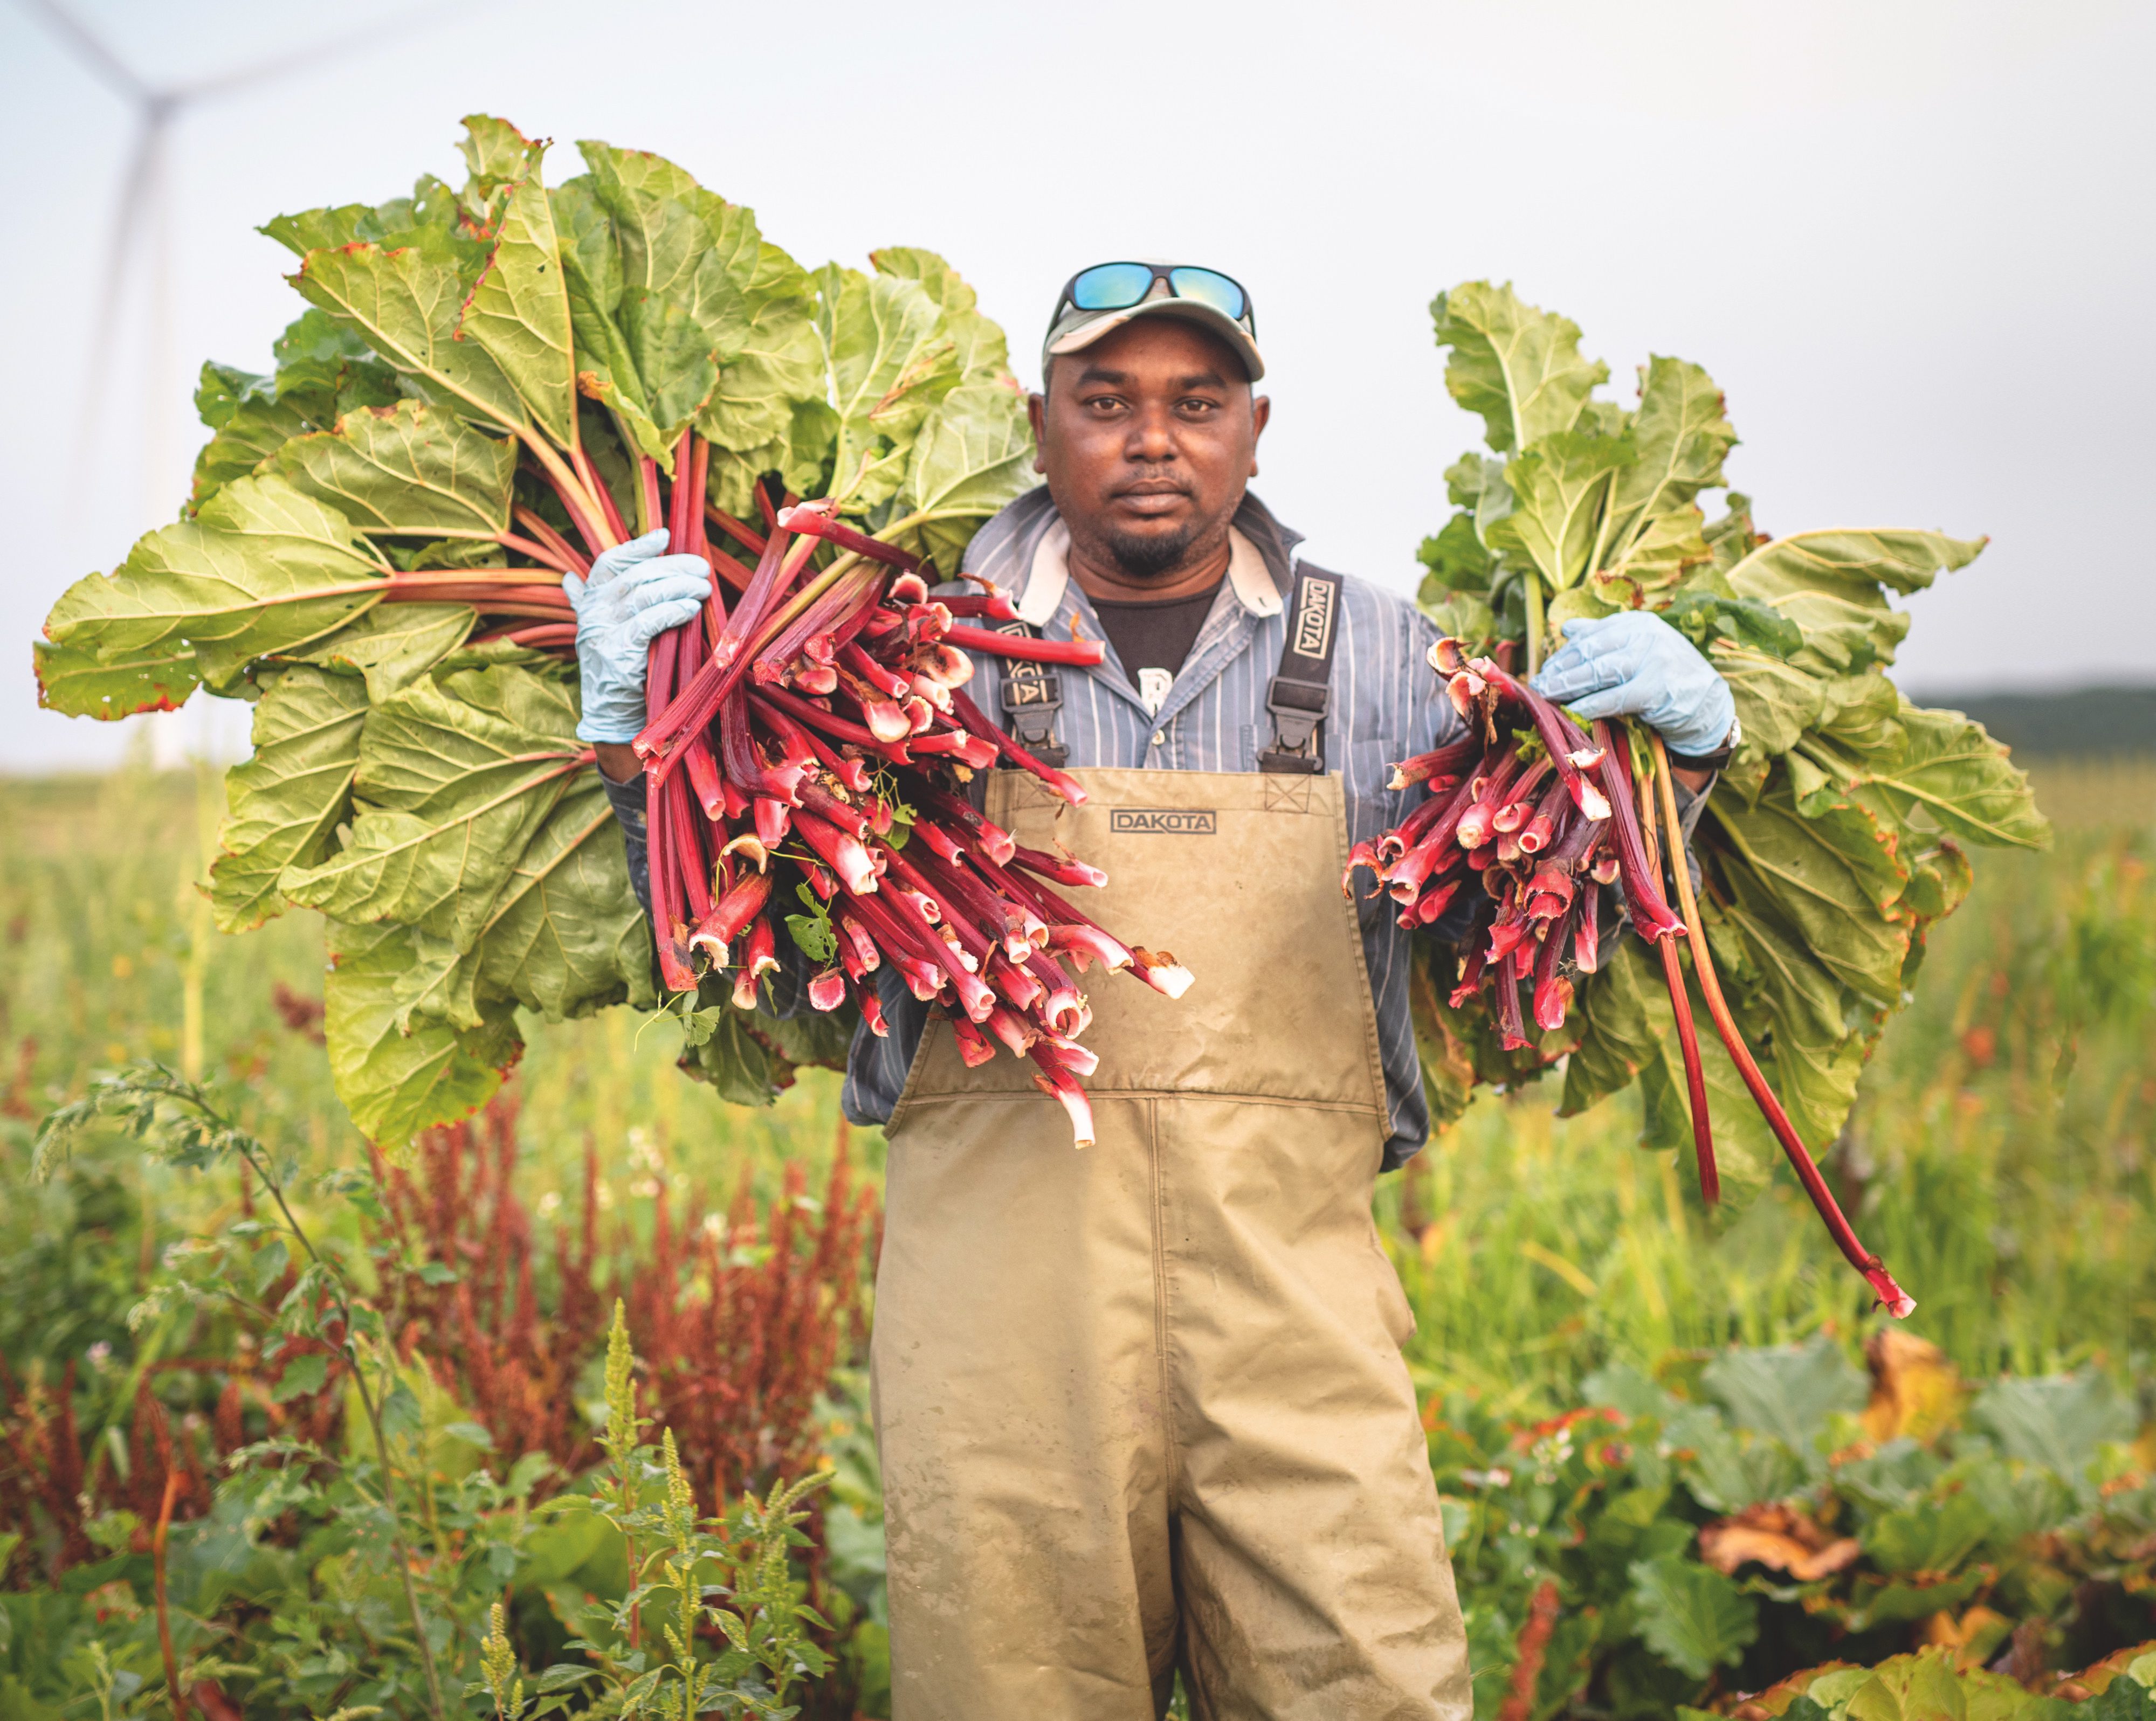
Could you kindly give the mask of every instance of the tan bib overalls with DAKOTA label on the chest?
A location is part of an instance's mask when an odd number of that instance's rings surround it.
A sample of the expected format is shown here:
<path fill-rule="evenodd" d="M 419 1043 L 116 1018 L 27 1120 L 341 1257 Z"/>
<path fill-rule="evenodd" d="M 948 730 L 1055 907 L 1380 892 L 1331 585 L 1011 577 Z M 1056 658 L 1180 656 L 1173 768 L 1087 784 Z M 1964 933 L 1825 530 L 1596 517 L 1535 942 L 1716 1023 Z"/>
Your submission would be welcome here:
<path fill-rule="evenodd" d="M 1097 1143 L 934 1020 L 890 1119 L 873 1382 L 897 1721 L 1468 1715 L 1378 1244 L 1378 1027 L 1339 776 L 1020 772 L 987 815 L 1173 951 L 1080 979 Z"/>

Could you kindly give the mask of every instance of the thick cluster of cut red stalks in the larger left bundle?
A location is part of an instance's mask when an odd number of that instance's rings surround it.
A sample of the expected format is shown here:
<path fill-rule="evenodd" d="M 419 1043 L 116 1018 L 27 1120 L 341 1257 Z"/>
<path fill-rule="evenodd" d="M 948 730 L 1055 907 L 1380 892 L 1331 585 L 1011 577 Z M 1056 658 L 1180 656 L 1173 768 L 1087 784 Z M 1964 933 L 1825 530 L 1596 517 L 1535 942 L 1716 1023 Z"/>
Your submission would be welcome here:
<path fill-rule="evenodd" d="M 755 1009 L 780 968 L 772 912 L 798 901 L 785 925 L 815 964 L 811 1009 L 852 996 L 871 1033 L 888 1033 L 871 979 L 888 964 L 914 999 L 944 1005 L 968 1065 L 998 1044 L 1031 1059 L 1035 1085 L 1091 1145 L 1080 1078 L 1097 1059 L 1078 1044 L 1093 1014 L 1076 975 L 1100 962 L 1171 999 L 1190 975 L 1056 891 L 1106 873 L 1022 848 L 966 798 L 972 772 L 1007 763 L 1084 800 L 966 697 L 966 649 L 1095 664 L 1104 647 L 970 625 L 1015 612 L 998 591 L 931 600 L 918 556 L 843 524 L 830 500 L 789 505 L 763 533 L 707 509 L 757 559 L 748 569 L 711 550 L 692 513 L 703 462 L 690 438 L 673 543 L 707 554 L 724 580 L 701 623 L 653 645 L 651 720 L 636 738 L 668 992 L 696 1033 L 722 1020 L 716 1003 L 696 1009 L 705 990 Z M 651 462 L 645 483 L 658 485 Z"/>

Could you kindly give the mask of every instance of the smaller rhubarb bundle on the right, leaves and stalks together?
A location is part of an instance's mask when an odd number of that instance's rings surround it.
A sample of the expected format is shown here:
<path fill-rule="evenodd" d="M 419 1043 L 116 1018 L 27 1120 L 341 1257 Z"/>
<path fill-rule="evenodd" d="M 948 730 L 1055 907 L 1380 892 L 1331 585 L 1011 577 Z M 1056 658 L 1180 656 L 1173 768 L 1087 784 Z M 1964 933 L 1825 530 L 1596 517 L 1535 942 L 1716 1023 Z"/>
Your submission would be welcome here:
<path fill-rule="evenodd" d="M 1984 543 L 1869 528 L 1770 539 L 1733 492 L 1708 520 L 1699 498 L 1727 483 L 1736 431 L 1705 371 L 1651 358 L 1636 401 L 1608 401 L 1608 367 L 1580 354 L 1578 326 L 1509 287 L 1468 283 L 1432 313 L 1447 388 L 1488 440 L 1447 470 L 1457 511 L 1421 550 L 1421 602 L 1449 636 L 1436 662 L 1470 738 L 1401 766 L 1397 787 L 1416 774 L 1445 787 L 1371 852 L 1419 925 L 1477 904 L 1470 936 L 1421 940 L 1432 1109 L 1457 1117 L 1477 1083 L 1559 1061 L 1565 1113 L 1639 1080 L 1643 1145 L 1690 1141 L 1701 1197 L 1742 1206 L 1785 1154 L 1871 1272 L 1807 1143 L 1841 1134 L 1925 930 L 1966 895 L 1962 843 L 2048 841 L 2005 748 L 1887 675 L 1908 630 L 1889 593 Z M 1587 733 L 1524 686 L 1563 621 L 1623 608 L 1662 612 L 1736 694 L 1742 742 L 1690 841 L 1697 901 L 1688 869 L 1669 865 L 1682 843 L 1654 738 Z M 1641 938 L 1613 938 L 1587 889 L 1613 869 Z M 1701 1003 L 1718 1029 L 1705 1044 Z"/>

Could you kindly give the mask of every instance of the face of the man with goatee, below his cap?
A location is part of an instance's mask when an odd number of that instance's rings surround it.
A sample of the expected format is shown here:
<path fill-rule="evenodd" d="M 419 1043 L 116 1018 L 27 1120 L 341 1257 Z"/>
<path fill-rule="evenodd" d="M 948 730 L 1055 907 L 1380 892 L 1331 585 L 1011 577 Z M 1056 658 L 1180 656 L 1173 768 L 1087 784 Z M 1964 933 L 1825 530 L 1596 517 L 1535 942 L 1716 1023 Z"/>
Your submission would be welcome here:
<path fill-rule="evenodd" d="M 1033 397 L 1033 466 L 1074 543 L 1136 580 L 1225 543 L 1270 410 L 1233 349 L 1141 317 L 1052 367 Z"/>

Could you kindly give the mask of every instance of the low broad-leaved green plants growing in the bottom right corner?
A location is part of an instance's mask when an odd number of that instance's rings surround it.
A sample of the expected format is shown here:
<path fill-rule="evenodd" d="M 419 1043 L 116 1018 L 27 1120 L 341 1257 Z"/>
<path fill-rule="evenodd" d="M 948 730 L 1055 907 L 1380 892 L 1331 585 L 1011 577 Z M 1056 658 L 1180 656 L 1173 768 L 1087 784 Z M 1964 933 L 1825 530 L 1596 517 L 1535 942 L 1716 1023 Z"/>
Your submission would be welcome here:
<path fill-rule="evenodd" d="M 1798 1691 L 1833 1715 L 1902 1715 L 1874 1706 L 1936 1686 L 1971 1715 L 2035 1717 L 2050 1710 L 2016 1706 L 2044 1699 L 1979 1671 L 2014 1622 L 2024 1639 L 2061 1650 L 2109 1650 L 2117 1639 L 2100 1633 L 2137 1622 L 2145 1635 L 2145 1609 L 2126 1598 L 2156 1557 L 2156 1544 L 2132 1542 L 2150 1523 L 2147 1484 L 2106 1501 L 2076 1497 L 2068 1477 L 2003 1456 L 1973 1423 L 1925 1441 L 1852 1443 L 1826 1460 L 1824 1443 L 1802 1438 L 1787 1415 L 1796 1393 L 1822 1434 L 1861 1432 L 1848 1410 L 1826 1408 L 1848 1404 L 1835 1376 L 1848 1363 L 1833 1344 L 1725 1350 L 1710 1369 L 1716 1387 L 1686 1385 L 1682 1365 L 1669 1385 L 1611 1367 L 1585 1382 L 1587 1400 L 1606 1408 L 1531 1426 L 1492 1417 L 1475 1393 L 1432 1400 L 1432 1467 L 1479 1717 L 1496 1715 L 1511 1684 L 1529 1602 L 1546 1581 L 1559 1592 L 1559 1624 L 1537 1715 L 1645 1719 L 1764 1686 L 1781 1693 L 1774 1715 Z M 2046 1385 L 2063 1393 L 2078 1382 Z M 1701 1387 L 1731 1408 L 1701 1400 Z M 1891 1404 L 1874 1398 L 1865 1423 L 1891 1432 Z M 1733 1460 L 1764 1486 L 1731 1490 Z M 2124 1447 L 2106 1447 L 2106 1462 L 2128 1462 Z M 2122 1561 L 2124 1548 L 2134 1551 Z M 1818 1568 L 1794 1570 L 1805 1559 Z M 2100 1624 L 2104 1594 L 2122 1605 L 2119 1626 Z M 1895 1654 L 1943 1624 L 1966 1630 L 1960 1661 Z M 1880 1667 L 1805 1671 L 1837 1656 Z M 1843 1708 L 1858 1691 L 1874 1695 Z"/>

